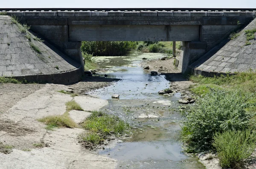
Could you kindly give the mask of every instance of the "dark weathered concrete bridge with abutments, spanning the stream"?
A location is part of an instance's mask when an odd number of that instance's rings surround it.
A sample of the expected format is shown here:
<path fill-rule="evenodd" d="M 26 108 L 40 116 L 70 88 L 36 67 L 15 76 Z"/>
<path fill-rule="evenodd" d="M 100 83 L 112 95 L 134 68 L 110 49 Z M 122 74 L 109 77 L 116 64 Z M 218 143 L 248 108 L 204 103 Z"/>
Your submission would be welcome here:
<path fill-rule="evenodd" d="M 256 16 L 248 9 L 55 10 L 6 9 L 81 64 L 81 41 L 182 41 L 182 72 Z"/>

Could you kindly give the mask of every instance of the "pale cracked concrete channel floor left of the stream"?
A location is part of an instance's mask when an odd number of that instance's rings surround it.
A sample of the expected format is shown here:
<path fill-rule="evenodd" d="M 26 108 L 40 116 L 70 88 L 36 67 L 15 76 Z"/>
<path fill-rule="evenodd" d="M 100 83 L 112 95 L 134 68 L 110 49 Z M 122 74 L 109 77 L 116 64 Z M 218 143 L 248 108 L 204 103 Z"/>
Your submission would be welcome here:
<path fill-rule="evenodd" d="M 116 160 L 99 156 L 83 149 L 78 137 L 83 129 L 60 128 L 47 131 L 45 125 L 37 121 L 47 115 L 61 115 L 66 111 L 65 103 L 73 99 L 70 95 L 57 92 L 67 86 L 46 84 L 28 97 L 17 102 L 7 112 L 1 114 L 3 124 L 15 124 L 17 129 L 0 131 L 0 142 L 14 146 L 10 154 L 0 153 L 0 169 L 113 169 Z M 75 97 L 85 111 L 98 110 L 108 104 L 107 100 L 86 96 Z M 89 112 L 70 113 L 76 122 L 81 122 Z M 8 129 L 8 127 L 7 127 Z M 33 144 L 44 142 L 44 148 Z M 29 149 L 31 151 L 24 151 Z"/>

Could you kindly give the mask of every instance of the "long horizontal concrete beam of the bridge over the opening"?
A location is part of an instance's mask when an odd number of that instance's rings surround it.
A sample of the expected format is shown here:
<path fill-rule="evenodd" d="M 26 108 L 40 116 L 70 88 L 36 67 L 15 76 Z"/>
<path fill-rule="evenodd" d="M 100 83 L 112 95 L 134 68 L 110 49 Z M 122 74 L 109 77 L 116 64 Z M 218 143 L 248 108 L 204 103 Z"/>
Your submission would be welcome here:
<path fill-rule="evenodd" d="M 71 25 L 71 41 L 192 41 L 199 40 L 199 26 Z"/>

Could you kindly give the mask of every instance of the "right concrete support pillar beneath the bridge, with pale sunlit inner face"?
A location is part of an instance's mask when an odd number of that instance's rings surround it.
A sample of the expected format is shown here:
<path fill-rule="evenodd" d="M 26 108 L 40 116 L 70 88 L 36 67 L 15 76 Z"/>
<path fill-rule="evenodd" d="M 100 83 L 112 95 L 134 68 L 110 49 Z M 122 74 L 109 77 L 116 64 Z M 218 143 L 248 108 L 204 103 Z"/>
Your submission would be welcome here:
<path fill-rule="evenodd" d="M 201 41 L 182 42 L 181 52 L 178 58 L 178 70 L 182 73 L 188 71 L 188 66 L 198 60 L 206 52 L 206 43 Z"/>

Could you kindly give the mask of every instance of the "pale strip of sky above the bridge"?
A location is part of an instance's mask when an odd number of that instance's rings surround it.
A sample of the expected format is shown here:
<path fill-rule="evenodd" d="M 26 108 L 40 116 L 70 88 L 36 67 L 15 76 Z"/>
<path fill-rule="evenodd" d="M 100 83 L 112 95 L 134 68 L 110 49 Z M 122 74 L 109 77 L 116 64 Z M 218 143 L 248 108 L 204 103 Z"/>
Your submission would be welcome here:
<path fill-rule="evenodd" d="M 256 8 L 256 0 L 0 0 L 0 8 Z"/>

